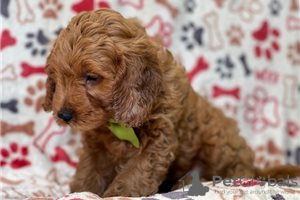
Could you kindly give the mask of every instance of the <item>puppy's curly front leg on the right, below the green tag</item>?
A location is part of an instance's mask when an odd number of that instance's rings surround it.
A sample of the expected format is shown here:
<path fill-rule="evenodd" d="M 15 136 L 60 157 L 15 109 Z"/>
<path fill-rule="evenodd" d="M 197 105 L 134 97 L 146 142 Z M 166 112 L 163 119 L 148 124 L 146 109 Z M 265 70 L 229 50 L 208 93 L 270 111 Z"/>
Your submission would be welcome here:
<path fill-rule="evenodd" d="M 158 191 L 175 159 L 178 142 L 170 128 L 155 128 L 150 134 L 143 141 L 142 152 L 126 163 L 103 197 L 148 196 Z"/>

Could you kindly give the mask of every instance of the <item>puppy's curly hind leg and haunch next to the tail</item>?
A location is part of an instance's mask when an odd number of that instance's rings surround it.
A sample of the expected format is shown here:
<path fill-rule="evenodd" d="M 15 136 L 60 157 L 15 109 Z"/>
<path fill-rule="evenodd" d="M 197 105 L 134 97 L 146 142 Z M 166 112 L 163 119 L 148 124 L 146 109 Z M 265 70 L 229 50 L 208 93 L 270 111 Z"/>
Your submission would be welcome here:
<path fill-rule="evenodd" d="M 202 176 L 211 180 L 212 176 L 232 178 L 254 175 L 254 153 L 239 135 L 236 122 L 221 110 L 207 107 L 205 118 L 202 117 L 205 123 L 201 127 L 199 150 Z"/>

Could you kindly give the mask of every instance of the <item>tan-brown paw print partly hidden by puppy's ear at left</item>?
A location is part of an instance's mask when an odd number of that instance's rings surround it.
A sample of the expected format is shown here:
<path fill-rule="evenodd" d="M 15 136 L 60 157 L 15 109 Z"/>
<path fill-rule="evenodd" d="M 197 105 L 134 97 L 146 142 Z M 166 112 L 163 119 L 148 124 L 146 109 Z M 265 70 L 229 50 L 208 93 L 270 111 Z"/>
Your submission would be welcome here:
<path fill-rule="evenodd" d="M 40 112 L 45 99 L 44 95 L 39 95 L 45 89 L 45 82 L 39 80 L 35 86 L 29 86 L 27 88 L 28 96 L 24 99 L 24 103 L 27 106 L 35 106 L 35 112 Z M 35 100 L 34 100 L 35 99 Z"/>

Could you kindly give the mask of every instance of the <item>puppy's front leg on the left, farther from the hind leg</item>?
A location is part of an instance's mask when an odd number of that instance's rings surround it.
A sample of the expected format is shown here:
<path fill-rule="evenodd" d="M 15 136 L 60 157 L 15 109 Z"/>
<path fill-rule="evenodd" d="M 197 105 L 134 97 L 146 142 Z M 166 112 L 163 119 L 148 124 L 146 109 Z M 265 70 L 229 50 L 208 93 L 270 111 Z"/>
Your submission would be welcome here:
<path fill-rule="evenodd" d="M 109 159 L 101 162 L 102 153 L 83 151 L 77 165 L 76 173 L 70 183 L 71 192 L 93 192 L 102 195 L 114 172 L 106 167 Z M 100 159 L 100 160 L 99 160 Z"/>

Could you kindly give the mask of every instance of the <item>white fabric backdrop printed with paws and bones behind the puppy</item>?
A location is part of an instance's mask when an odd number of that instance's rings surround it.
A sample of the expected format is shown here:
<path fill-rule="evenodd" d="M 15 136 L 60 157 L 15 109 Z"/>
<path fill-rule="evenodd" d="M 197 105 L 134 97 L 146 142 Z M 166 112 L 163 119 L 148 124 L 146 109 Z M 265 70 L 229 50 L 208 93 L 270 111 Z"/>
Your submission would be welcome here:
<path fill-rule="evenodd" d="M 138 17 L 193 88 L 238 121 L 256 165 L 300 165 L 299 0 L 1 0 L 1 196 L 63 196 L 79 134 L 41 109 L 45 60 L 71 17 Z"/>

